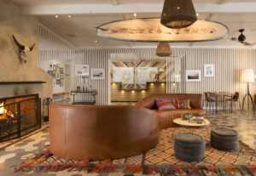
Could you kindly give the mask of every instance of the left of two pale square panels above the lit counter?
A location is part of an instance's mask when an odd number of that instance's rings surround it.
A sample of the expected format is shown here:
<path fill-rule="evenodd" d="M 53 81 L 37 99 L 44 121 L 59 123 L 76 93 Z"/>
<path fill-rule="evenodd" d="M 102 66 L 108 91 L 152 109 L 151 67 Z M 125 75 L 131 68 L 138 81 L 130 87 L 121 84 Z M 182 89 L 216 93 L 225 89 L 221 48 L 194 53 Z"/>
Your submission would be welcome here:
<path fill-rule="evenodd" d="M 123 84 L 133 84 L 134 68 L 133 67 L 113 68 L 113 82 L 122 82 Z"/>

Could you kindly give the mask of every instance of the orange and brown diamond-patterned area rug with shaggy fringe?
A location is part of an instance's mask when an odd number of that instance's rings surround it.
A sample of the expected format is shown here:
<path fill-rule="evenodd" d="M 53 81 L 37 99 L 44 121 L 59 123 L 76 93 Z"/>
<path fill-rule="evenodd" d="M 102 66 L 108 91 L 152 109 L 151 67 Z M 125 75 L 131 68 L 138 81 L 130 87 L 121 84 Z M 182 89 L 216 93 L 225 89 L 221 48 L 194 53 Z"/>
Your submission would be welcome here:
<path fill-rule="evenodd" d="M 73 161 L 55 157 L 49 146 L 25 162 L 15 166 L 15 172 L 40 173 L 84 171 L 88 173 L 144 173 L 163 175 L 256 175 L 256 153 L 240 142 L 237 151 L 225 152 L 212 148 L 211 128 L 167 128 L 160 132 L 160 143 L 154 149 L 138 156 L 119 160 L 91 162 Z M 195 133 L 207 141 L 205 158 L 201 162 L 182 162 L 174 156 L 173 142 L 177 133 Z"/>

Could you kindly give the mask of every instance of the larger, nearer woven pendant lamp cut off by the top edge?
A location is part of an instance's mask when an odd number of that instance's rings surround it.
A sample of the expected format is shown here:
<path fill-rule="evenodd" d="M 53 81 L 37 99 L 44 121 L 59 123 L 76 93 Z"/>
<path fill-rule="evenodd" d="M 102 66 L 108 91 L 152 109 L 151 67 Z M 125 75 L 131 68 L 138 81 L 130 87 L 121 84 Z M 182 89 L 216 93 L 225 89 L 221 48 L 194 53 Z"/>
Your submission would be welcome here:
<path fill-rule="evenodd" d="M 161 24 L 172 29 L 191 26 L 197 20 L 192 0 L 166 0 Z"/>

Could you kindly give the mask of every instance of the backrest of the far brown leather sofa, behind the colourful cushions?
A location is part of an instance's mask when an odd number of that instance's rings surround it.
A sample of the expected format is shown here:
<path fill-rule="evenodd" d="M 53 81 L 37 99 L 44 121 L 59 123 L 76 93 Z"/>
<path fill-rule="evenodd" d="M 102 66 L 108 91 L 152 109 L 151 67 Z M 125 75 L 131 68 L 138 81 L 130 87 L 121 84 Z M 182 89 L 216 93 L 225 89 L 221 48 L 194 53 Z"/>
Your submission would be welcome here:
<path fill-rule="evenodd" d="M 202 94 L 156 94 L 149 96 L 137 102 L 137 107 L 148 109 L 156 109 L 155 99 L 171 98 L 171 99 L 190 99 L 191 108 L 202 109 Z"/>

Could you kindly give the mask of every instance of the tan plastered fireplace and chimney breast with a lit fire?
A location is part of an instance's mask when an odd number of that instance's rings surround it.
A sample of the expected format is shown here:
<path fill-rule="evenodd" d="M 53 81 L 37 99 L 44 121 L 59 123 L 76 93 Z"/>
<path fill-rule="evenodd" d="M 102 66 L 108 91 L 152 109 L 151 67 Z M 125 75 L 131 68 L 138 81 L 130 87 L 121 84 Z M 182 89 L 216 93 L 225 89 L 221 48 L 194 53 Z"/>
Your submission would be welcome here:
<path fill-rule="evenodd" d="M 52 79 L 38 67 L 38 19 L 20 15 L 19 11 L 15 3 L 0 0 L 0 139 L 3 140 L 40 128 L 41 100 L 52 98 Z M 20 62 L 13 35 L 26 46 L 35 43 L 26 63 Z M 30 111 L 25 107 L 28 105 Z M 9 135 L 12 133 L 15 135 Z"/>

